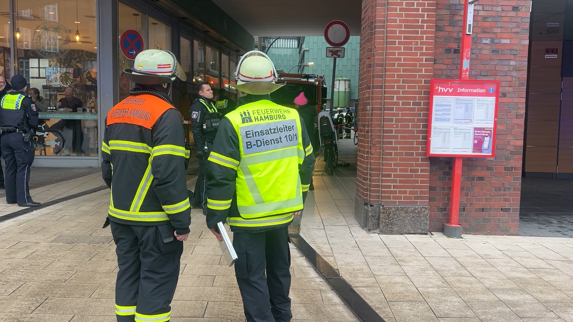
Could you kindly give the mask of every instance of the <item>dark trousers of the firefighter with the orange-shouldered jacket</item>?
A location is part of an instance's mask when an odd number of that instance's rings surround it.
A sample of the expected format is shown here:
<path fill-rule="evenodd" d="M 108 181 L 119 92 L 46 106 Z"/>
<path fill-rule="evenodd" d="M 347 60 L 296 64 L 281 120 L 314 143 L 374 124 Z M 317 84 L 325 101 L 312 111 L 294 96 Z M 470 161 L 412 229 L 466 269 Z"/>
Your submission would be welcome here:
<path fill-rule="evenodd" d="M 174 237 L 171 225 L 110 224 L 119 266 L 115 285 L 117 322 L 138 318 L 168 321 L 183 242 Z"/>

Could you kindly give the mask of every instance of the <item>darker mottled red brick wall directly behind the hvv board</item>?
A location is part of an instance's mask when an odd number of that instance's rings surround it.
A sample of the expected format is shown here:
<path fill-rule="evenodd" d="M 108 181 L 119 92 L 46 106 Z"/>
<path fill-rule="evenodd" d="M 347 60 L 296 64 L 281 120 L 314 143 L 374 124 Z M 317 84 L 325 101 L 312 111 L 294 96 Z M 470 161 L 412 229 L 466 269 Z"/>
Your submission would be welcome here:
<path fill-rule="evenodd" d="M 460 224 L 465 234 L 517 234 L 531 1 L 480 0 L 475 6 L 470 79 L 500 80 L 494 159 L 466 159 Z M 437 0 L 435 78 L 457 78 L 461 5 Z M 430 230 L 448 222 L 450 158 L 430 160 Z"/>

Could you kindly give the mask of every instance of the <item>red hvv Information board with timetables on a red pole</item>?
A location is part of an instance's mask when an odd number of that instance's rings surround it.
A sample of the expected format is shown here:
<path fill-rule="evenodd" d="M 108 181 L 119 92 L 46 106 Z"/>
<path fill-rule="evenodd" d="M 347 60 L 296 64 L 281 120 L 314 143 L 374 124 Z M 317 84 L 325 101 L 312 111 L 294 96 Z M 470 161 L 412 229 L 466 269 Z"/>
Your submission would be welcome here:
<path fill-rule="evenodd" d="M 431 80 L 427 156 L 493 157 L 499 81 Z"/>

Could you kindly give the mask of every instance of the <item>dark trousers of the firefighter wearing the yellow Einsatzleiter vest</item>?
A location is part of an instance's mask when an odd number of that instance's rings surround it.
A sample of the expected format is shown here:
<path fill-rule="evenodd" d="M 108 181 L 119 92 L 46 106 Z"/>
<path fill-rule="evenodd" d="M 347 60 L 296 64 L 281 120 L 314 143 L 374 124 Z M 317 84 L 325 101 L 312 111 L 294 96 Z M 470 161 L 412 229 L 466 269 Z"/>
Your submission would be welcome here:
<path fill-rule="evenodd" d="M 262 233 L 236 231 L 233 235 L 233 247 L 238 257 L 235 274 L 247 322 L 288 322 L 292 319 L 288 238 L 288 227 Z"/>

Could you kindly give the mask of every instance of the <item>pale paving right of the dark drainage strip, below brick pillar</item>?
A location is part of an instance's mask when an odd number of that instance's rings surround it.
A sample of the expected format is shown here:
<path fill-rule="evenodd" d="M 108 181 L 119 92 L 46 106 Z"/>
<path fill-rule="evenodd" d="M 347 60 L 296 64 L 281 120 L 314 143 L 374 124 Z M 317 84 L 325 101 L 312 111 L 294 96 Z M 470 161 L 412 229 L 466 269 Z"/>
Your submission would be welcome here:
<path fill-rule="evenodd" d="M 320 165 L 300 234 L 387 322 L 573 322 L 573 238 L 367 233 Z"/>

